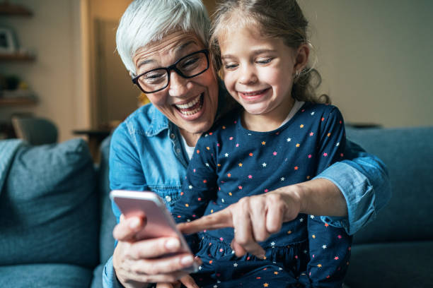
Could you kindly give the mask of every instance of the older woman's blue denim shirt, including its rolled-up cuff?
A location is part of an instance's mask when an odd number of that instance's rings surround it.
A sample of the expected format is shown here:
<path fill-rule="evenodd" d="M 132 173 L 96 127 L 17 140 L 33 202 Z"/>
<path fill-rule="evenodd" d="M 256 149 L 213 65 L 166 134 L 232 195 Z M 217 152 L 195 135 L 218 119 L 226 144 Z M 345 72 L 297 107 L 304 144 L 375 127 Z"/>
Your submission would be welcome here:
<path fill-rule="evenodd" d="M 187 159 L 178 127 L 152 104 L 132 113 L 112 135 L 110 188 L 151 190 L 158 193 L 169 210 L 180 196 Z M 391 197 L 388 172 L 379 158 L 347 141 L 347 160 L 337 162 L 316 176 L 332 181 L 345 196 L 347 217 L 321 217 L 323 222 L 344 227 L 354 234 L 376 218 Z M 112 204 L 119 222 L 120 210 Z M 103 272 L 104 287 L 121 287 L 112 268 L 112 258 Z"/>

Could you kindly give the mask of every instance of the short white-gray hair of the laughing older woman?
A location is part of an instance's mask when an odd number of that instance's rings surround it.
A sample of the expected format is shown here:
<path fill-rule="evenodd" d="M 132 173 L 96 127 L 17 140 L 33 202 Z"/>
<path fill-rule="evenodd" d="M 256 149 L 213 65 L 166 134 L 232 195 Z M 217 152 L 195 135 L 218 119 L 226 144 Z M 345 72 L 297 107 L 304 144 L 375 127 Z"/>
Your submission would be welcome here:
<path fill-rule="evenodd" d="M 117 52 L 127 70 L 135 74 L 132 57 L 140 47 L 162 40 L 175 30 L 194 32 L 207 47 L 209 28 L 209 16 L 201 0 L 134 0 L 117 28 Z"/>

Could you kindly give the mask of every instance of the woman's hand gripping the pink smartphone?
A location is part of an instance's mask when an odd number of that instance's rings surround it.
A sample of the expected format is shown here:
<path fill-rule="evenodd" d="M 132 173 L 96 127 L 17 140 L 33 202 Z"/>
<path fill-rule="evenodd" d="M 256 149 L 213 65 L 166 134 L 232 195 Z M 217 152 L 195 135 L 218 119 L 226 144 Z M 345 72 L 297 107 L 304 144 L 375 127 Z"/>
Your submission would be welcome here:
<path fill-rule="evenodd" d="M 180 241 L 177 238 L 161 237 L 137 241 L 135 235 L 145 225 L 144 217 L 126 219 L 121 215 L 119 224 L 113 230 L 113 236 L 118 243 L 112 256 L 112 264 L 117 279 L 123 286 L 146 287 L 149 282 L 176 282 L 187 275 L 187 272 L 181 269 L 190 267 L 194 261 L 200 261 L 195 260 L 190 253 L 163 257 L 180 250 Z M 187 287 L 194 286 L 188 284 Z"/>

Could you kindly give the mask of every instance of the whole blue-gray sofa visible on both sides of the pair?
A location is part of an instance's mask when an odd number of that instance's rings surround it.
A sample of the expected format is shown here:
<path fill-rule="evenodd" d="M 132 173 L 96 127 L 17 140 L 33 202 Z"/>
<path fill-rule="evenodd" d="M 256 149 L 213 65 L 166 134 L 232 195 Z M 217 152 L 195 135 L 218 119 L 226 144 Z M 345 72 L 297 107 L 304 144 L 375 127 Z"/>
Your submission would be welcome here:
<path fill-rule="evenodd" d="M 347 136 L 385 162 L 393 196 L 354 236 L 345 283 L 433 287 L 433 127 L 347 129 Z M 108 152 L 109 138 L 95 169 L 79 139 L 16 151 L 0 185 L 0 287 L 102 287 L 115 224 Z"/>

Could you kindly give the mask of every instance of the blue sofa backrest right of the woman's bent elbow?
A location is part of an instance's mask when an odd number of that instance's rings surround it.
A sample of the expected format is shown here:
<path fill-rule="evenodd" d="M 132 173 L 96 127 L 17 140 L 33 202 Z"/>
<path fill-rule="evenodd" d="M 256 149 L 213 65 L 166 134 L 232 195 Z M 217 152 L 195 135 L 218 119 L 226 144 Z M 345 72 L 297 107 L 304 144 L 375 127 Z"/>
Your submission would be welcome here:
<path fill-rule="evenodd" d="M 388 167 L 392 196 L 354 243 L 433 239 L 433 127 L 347 128 L 347 138 Z"/>

